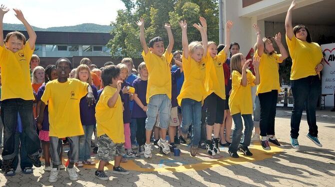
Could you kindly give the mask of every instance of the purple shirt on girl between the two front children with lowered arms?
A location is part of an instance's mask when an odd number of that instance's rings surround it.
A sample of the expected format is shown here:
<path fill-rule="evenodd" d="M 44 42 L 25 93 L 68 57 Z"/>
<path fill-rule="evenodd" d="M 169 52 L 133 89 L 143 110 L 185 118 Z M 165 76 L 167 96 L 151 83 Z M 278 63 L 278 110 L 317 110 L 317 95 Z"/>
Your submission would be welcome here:
<path fill-rule="evenodd" d="M 95 85 L 91 85 L 94 98 L 97 99 L 97 91 Z M 87 94 L 86 94 L 87 95 Z M 86 95 L 80 99 L 80 120 L 82 125 L 95 125 L 95 104 L 88 106 Z"/>

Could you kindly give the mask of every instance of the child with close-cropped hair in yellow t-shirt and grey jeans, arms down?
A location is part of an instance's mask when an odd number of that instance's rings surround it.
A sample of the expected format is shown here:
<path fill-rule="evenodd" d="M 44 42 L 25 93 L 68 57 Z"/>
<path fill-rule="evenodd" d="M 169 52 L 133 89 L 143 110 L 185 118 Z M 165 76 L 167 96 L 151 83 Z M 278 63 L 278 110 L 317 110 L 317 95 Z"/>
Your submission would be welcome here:
<path fill-rule="evenodd" d="M 57 79 L 46 83 L 44 93 L 41 97 L 37 125 L 43 121 L 44 108 L 48 105 L 49 111 L 49 141 L 52 168 L 49 175 L 49 182 L 56 182 L 58 179 L 61 164 L 61 138 L 67 137 L 70 150 L 68 151 L 69 164 L 67 172 L 70 180 L 77 180 L 78 175 L 73 164 L 79 157 L 79 135 L 84 134 L 80 121 L 79 101 L 85 96 L 88 105 L 95 102 L 92 88 L 87 82 L 75 78 L 67 78 L 71 69 L 71 62 L 67 58 L 59 58 L 56 61 Z"/>

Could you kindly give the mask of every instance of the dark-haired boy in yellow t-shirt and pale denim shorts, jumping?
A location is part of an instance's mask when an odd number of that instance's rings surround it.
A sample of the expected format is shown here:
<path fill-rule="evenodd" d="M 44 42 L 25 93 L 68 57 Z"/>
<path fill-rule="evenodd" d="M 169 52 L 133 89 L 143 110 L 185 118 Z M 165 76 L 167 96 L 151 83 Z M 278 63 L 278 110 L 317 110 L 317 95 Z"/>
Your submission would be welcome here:
<path fill-rule="evenodd" d="M 157 144 L 161 150 L 167 154 L 170 152 L 166 140 L 166 129 L 170 122 L 171 113 L 171 71 L 169 63 L 172 59 L 171 50 L 173 47 L 173 35 L 170 24 L 165 23 L 169 44 L 164 52 L 164 42 L 161 37 L 154 37 L 149 41 L 149 47 L 146 45 L 144 36 L 144 20 L 137 21 L 140 30 L 140 42 L 143 48 L 142 56 L 149 72 L 147 80 L 146 102 L 148 108 L 145 120 L 145 145 L 144 157 L 152 157 L 150 136 L 153 125 L 156 122 L 159 112 L 161 137 Z"/>

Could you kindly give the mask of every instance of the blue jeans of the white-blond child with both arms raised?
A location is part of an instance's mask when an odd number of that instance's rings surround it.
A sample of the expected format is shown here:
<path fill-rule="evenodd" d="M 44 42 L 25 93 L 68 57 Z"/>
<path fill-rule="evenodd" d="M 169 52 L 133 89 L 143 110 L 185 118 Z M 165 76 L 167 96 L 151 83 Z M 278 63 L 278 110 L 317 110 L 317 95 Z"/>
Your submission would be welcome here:
<path fill-rule="evenodd" d="M 197 147 L 201 133 L 201 101 L 183 98 L 181 100 L 181 114 L 180 130 L 183 134 L 186 134 L 189 125 L 192 124 L 191 146 Z"/>

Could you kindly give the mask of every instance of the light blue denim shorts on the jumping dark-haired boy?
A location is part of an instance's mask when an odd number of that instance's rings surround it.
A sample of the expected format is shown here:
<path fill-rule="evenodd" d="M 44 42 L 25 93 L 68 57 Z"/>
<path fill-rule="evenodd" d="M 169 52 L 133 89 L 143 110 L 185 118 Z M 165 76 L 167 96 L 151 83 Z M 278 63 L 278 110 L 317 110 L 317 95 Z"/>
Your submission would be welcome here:
<path fill-rule="evenodd" d="M 166 129 L 170 123 L 171 99 L 166 94 L 157 94 L 149 98 L 146 110 L 145 129 L 152 130 L 159 113 L 158 127 Z"/>

